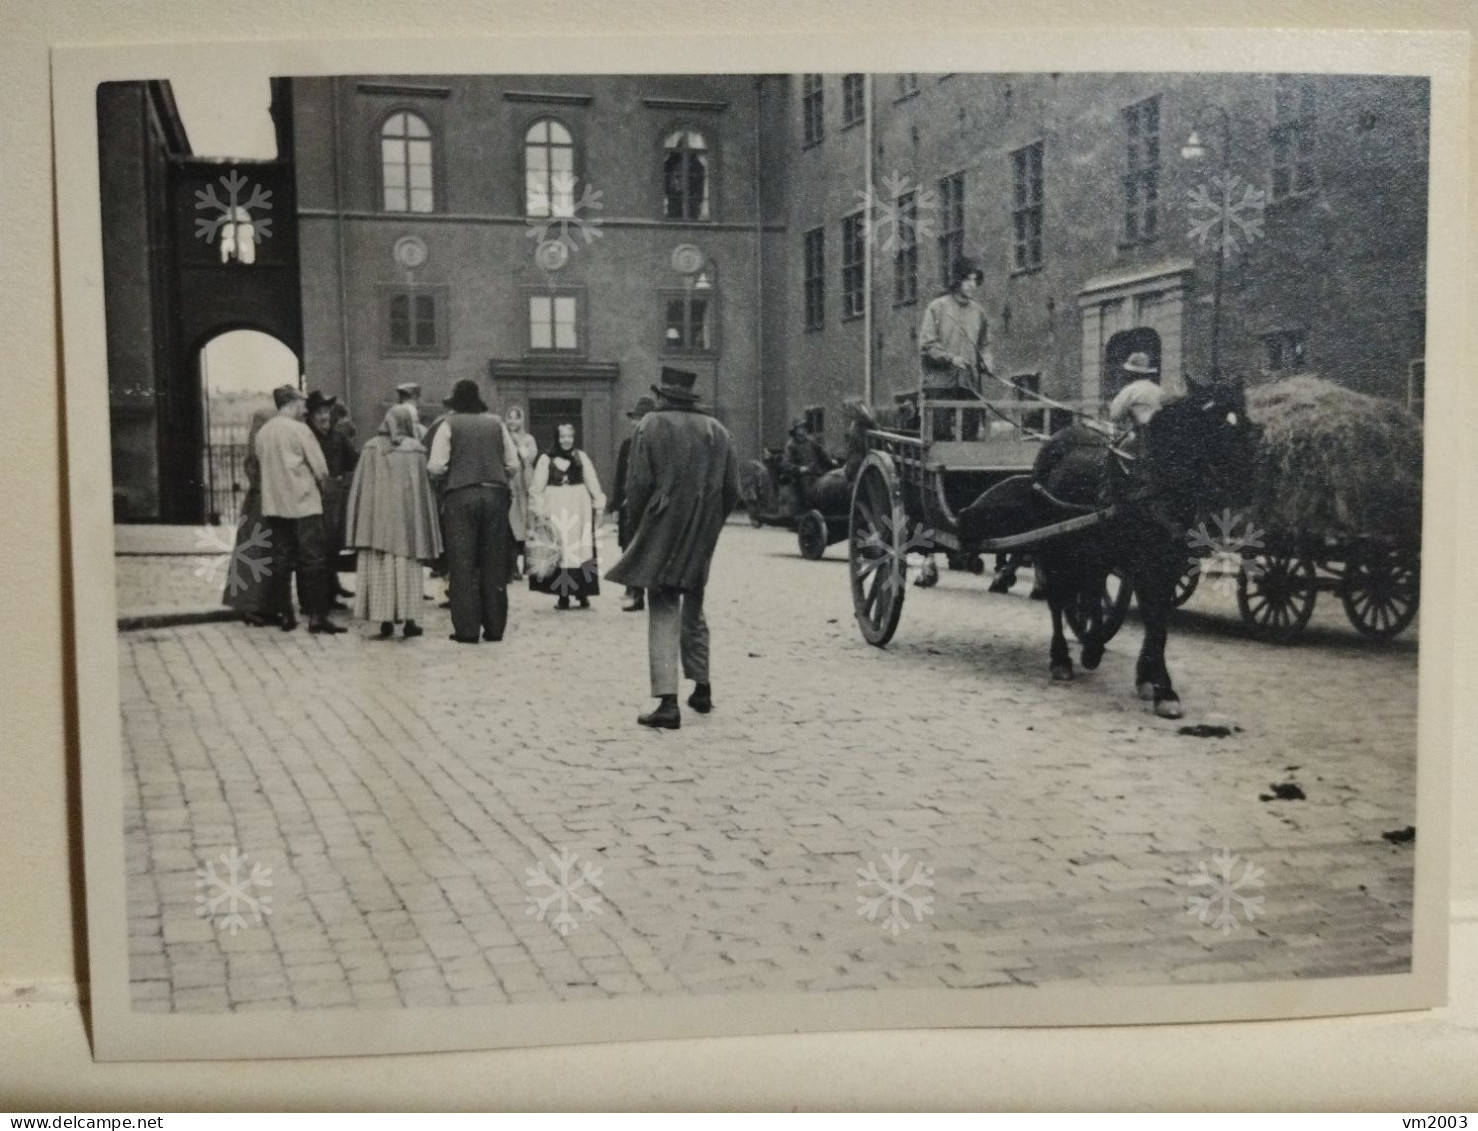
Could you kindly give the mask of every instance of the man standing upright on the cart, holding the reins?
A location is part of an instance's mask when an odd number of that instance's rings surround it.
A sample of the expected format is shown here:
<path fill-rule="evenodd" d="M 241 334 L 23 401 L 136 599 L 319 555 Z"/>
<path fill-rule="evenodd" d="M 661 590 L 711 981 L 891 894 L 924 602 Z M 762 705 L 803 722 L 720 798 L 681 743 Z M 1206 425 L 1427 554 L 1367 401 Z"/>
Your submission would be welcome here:
<path fill-rule="evenodd" d="M 975 302 L 975 293 L 986 276 L 973 259 L 955 262 L 947 294 L 941 294 L 924 309 L 919 327 L 919 361 L 924 367 L 925 401 L 970 401 L 981 398 L 981 378 L 995 371 L 990 356 L 990 336 L 986 312 Z M 962 435 L 953 435 L 953 412 L 934 415 L 933 436 L 924 439 L 978 439 L 984 410 L 967 408 L 961 412 Z"/>

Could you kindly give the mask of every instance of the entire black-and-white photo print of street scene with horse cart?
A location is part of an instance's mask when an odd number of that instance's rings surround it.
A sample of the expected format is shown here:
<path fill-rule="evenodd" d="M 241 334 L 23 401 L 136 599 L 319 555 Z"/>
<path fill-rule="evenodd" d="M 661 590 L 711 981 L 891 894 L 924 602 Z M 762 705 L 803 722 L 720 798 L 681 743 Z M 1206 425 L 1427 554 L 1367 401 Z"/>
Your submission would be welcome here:
<path fill-rule="evenodd" d="M 1145 58 L 95 83 L 99 1054 L 1440 1002 L 1434 80 Z"/>

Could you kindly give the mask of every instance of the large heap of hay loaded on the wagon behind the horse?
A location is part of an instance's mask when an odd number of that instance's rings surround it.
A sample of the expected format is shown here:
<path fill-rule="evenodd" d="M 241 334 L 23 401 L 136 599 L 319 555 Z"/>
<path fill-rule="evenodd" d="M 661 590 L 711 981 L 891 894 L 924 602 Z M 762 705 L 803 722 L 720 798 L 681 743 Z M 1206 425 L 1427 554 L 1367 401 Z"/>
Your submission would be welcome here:
<path fill-rule="evenodd" d="M 1270 532 L 1417 541 L 1422 421 L 1321 377 L 1247 389 L 1262 429 L 1252 507 Z"/>

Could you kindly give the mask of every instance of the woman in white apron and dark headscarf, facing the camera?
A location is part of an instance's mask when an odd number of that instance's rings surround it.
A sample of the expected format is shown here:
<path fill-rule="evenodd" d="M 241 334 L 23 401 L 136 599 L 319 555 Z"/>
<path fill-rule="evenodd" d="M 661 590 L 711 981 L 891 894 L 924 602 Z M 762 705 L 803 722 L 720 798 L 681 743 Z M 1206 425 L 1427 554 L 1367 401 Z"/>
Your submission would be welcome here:
<path fill-rule="evenodd" d="M 551 562 L 529 572 L 529 588 L 556 594 L 556 609 L 568 609 L 571 597 L 588 609 L 590 599 L 600 593 L 596 529 L 606 495 L 590 457 L 575 446 L 575 426 L 560 424 L 557 436 L 554 446 L 534 464 L 529 504 L 535 517 L 547 523 Z"/>

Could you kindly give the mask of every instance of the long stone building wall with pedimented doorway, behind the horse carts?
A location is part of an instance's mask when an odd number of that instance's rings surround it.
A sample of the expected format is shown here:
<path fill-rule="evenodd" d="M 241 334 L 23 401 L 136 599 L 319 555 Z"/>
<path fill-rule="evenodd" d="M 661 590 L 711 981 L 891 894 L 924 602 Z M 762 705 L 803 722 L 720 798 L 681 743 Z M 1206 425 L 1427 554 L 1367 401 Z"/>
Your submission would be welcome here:
<path fill-rule="evenodd" d="M 789 83 L 792 414 L 862 392 L 869 365 L 875 401 L 912 389 L 924 305 L 959 250 L 984 269 L 980 300 L 1001 374 L 1063 401 L 1107 399 L 1116 365 L 1141 349 L 1172 390 L 1185 374 L 1208 376 L 1213 321 L 1222 374 L 1312 371 L 1420 398 L 1423 78 Z M 1200 152 L 1182 155 L 1193 132 Z M 1225 242 L 1216 302 L 1224 200 L 1236 245 Z"/>

